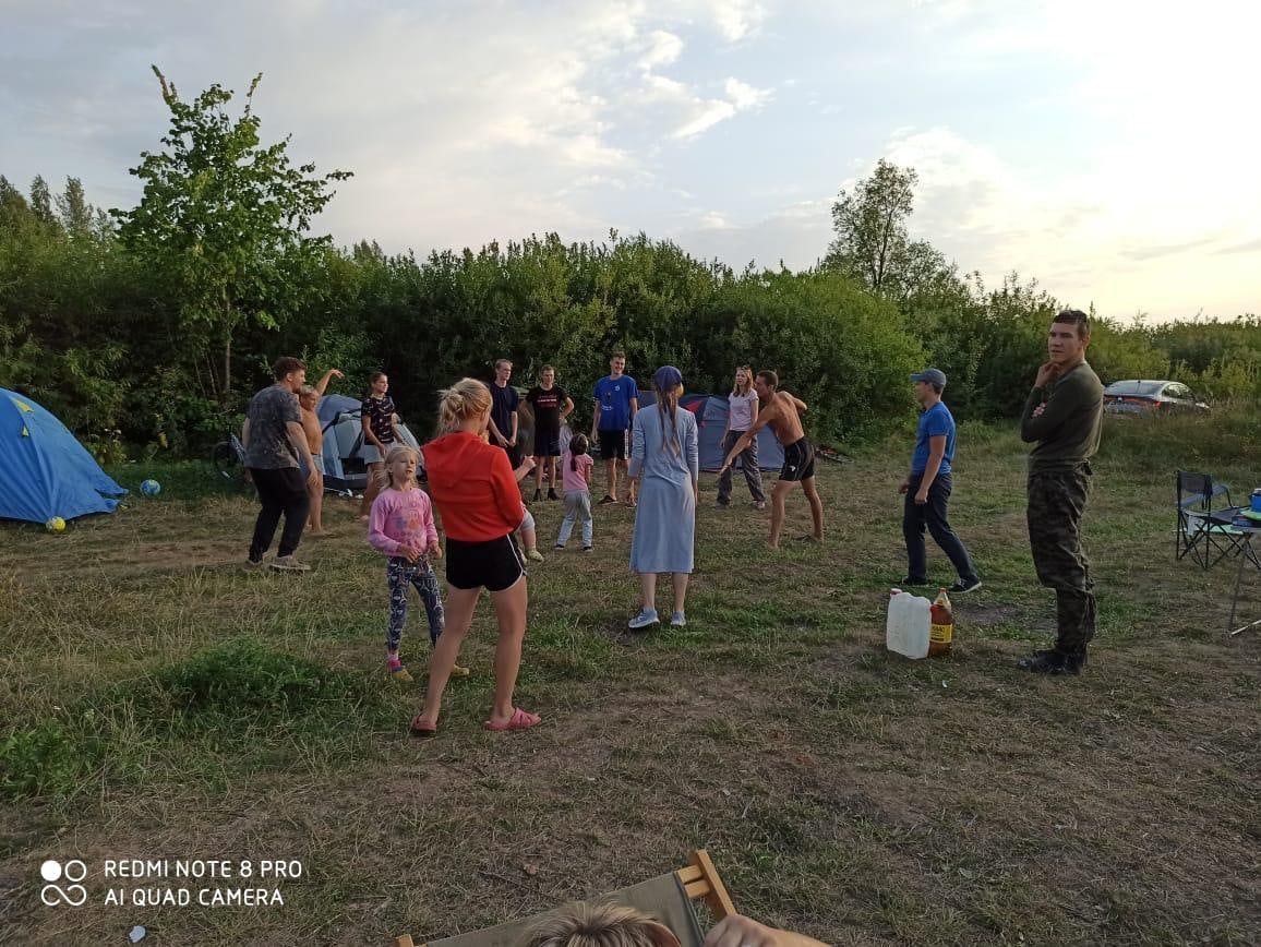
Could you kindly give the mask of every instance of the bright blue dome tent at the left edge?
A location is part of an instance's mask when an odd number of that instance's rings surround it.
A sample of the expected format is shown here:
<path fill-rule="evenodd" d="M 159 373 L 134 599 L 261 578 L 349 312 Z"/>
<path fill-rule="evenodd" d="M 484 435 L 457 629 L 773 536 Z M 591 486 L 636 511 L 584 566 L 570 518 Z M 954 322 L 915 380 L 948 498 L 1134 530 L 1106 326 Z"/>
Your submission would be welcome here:
<path fill-rule="evenodd" d="M 47 523 L 112 513 L 125 494 L 64 424 L 0 388 L 0 518 Z"/>

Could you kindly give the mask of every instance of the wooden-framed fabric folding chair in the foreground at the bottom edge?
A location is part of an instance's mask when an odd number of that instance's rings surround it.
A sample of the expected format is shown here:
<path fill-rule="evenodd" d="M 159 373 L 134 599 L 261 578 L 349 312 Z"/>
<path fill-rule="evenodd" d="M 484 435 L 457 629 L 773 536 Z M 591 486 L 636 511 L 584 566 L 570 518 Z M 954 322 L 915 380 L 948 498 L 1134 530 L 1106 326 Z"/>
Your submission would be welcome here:
<path fill-rule="evenodd" d="M 661 923 L 675 932 L 682 947 L 701 947 L 705 942 L 705 933 L 692 910 L 692 902 L 701 899 L 705 900 L 715 921 L 721 921 L 728 914 L 735 913 L 735 907 L 728 897 L 723 879 L 718 876 L 718 870 L 705 849 L 694 851 L 686 868 L 658 875 L 648 881 L 641 881 L 630 888 L 623 888 L 620 892 L 614 892 L 599 900 L 614 900 L 654 914 Z M 483 931 L 456 934 L 443 941 L 430 941 L 421 947 L 514 947 L 530 927 L 549 913 L 551 912 L 535 914 L 521 921 L 509 921 L 506 924 L 488 927 Z M 395 944 L 396 947 L 416 947 L 411 934 L 401 934 Z"/>

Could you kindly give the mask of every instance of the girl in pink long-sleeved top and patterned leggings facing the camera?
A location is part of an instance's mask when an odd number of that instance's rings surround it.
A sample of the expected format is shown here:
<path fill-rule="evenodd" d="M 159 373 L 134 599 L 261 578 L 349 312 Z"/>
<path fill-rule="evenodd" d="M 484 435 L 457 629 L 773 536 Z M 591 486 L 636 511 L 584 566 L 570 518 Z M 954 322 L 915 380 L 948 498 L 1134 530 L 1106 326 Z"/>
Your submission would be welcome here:
<path fill-rule="evenodd" d="M 434 526 L 434 509 L 429 497 L 416 485 L 416 451 L 402 444 L 390 448 L 386 454 L 386 488 L 372 501 L 368 514 L 368 542 L 390 557 L 386 578 L 390 584 L 390 622 L 386 630 L 386 659 L 395 681 L 412 680 L 398 657 L 402 629 L 407 624 L 407 586 L 416 586 L 425 612 L 429 614 L 429 641 L 438 643 L 443 633 L 443 599 L 438 591 L 438 576 L 429 564 L 429 556 L 441 559 Z M 453 673 L 467 675 L 467 667 L 455 667 Z"/>

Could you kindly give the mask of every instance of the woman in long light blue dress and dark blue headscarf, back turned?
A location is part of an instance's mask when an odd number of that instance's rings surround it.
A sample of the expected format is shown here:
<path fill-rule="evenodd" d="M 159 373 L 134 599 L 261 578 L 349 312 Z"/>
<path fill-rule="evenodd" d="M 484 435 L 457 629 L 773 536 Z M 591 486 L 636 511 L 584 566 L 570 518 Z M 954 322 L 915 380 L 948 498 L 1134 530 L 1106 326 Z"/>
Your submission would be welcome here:
<path fill-rule="evenodd" d="M 700 492 L 700 438 L 696 416 L 678 406 L 683 376 L 663 366 L 652 376 L 657 404 L 636 412 L 630 434 L 630 480 L 639 482 L 639 506 L 630 541 L 630 571 L 639 574 L 643 608 L 630 628 L 657 623 L 657 576 L 675 578 L 675 610 L 670 623 L 687 624 L 683 603 L 696 541 Z"/>

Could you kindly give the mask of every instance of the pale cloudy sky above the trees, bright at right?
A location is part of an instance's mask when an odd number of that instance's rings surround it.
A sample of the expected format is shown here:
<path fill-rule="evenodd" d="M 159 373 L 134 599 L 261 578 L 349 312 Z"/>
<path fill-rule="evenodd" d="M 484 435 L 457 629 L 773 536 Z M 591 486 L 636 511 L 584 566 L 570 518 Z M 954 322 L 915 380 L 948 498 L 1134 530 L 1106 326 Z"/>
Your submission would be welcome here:
<path fill-rule="evenodd" d="M 317 222 L 387 252 L 555 231 L 812 266 L 839 190 L 919 175 L 913 236 L 1127 320 L 1261 314 L 1261 4 L 0 0 L 0 174 L 131 207 L 192 98 L 243 96 Z"/>

